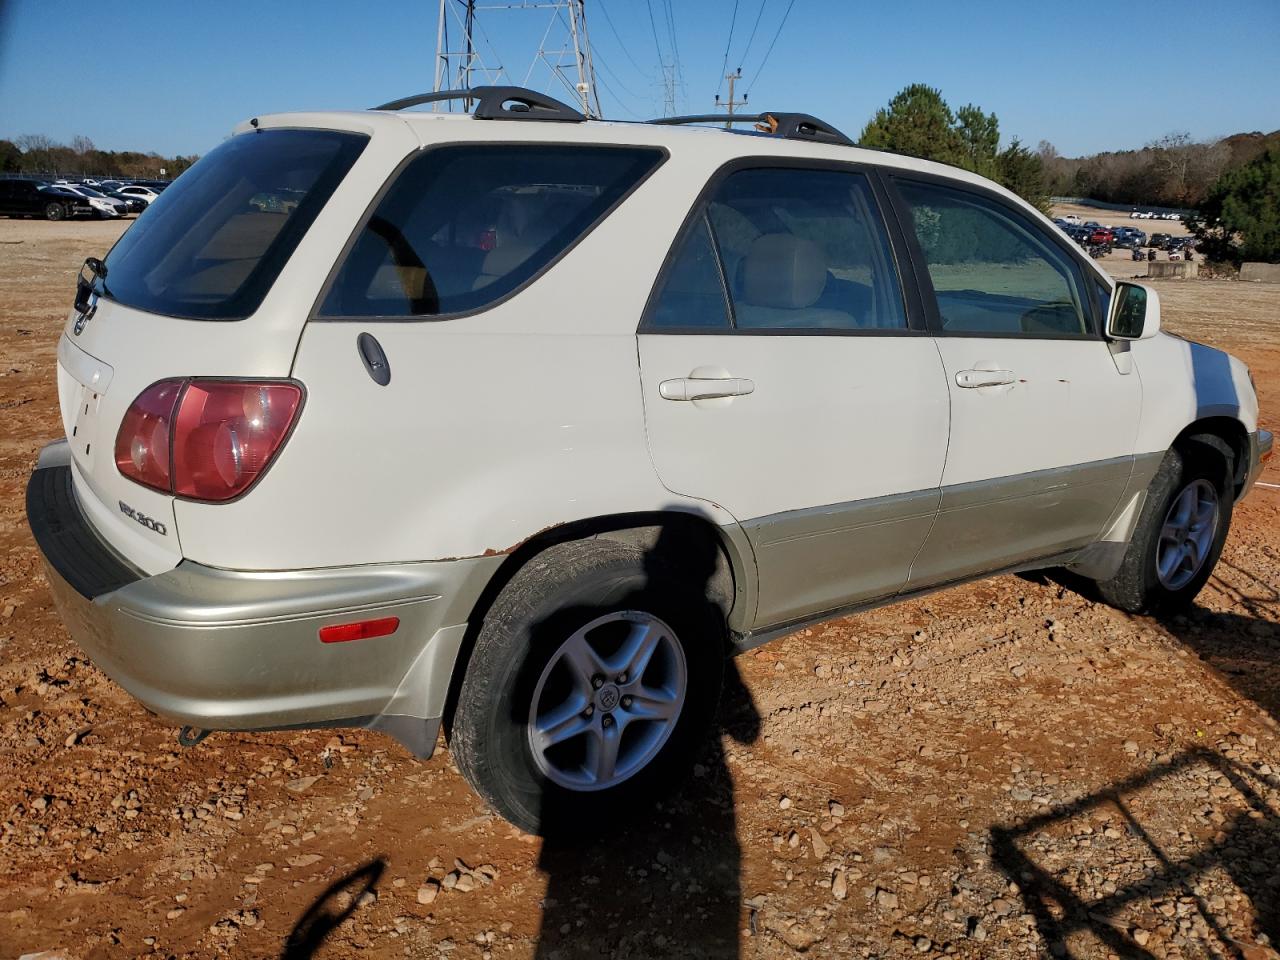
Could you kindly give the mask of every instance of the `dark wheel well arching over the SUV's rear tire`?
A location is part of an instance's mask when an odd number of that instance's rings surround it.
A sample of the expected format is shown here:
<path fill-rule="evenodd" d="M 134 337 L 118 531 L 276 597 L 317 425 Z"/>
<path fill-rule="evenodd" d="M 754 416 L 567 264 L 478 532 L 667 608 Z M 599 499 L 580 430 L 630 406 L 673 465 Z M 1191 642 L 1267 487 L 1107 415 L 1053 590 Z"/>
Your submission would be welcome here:
<path fill-rule="evenodd" d="M 453 663 L 453 676 L 449 678 L 449 694 L 444 707 L 445 736 L 452 736 L 453 710 L 457 707 L 462 677 L 471 660 L 476 636 L 484 618 L 502 589 L 511 582 L 516 572 L 538 554 L 556 544 L 571 540 L 605 539 L 632 544 L 645 550 L 660 550 L 663 559 L 676 570 L 682 559 L 690 556 L 705 556 L 714 550 L 714 570 L 707 584 L 707 595 L 723 611 L 726 618 L 740 596 L 742 572 L 735 570 L 737 552 L 724 538 L 719 527 L 705 517 L 695 513 L 657 511 L 645 513 L 618 513 L 605 517 L 591 517 L 543 530 L 520 543 L 497 572 L 490 577 L 480 599 L 467 620 L 467 632 Z"/>

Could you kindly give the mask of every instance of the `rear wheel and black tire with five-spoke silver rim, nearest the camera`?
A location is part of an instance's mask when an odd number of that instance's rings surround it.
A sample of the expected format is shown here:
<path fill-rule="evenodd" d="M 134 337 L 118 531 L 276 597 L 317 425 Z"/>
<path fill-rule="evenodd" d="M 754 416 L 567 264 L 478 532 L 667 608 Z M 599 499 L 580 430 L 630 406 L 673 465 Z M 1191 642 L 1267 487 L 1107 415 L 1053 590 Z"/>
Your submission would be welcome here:
<path fill-rule="evenodd" d="M 485 614 L 458 691 L 449 749 L 475 791 L 521 829 L 581 837 L 617 831 L 637 805 L 678 785 L 710 728 L 724 664 L 723 614 L 704 586 L 612 540 L 559 544 L 529 561 Z M 613 675 L 641 634 L 655 644 L 648 667 Z M 573 666 L 584 643 L 611 676 L 584 682 Z M 649 701 L 640 690 L 660 681 L 667 696 L 681 668 L 678 704 L 660 707 L 673 717 L 639 717 Z M 566 724 L 580 732 L 535 746 L 539 726 Z M 614 777 L 596 777 L 605 742 L 621 744 Z"/>

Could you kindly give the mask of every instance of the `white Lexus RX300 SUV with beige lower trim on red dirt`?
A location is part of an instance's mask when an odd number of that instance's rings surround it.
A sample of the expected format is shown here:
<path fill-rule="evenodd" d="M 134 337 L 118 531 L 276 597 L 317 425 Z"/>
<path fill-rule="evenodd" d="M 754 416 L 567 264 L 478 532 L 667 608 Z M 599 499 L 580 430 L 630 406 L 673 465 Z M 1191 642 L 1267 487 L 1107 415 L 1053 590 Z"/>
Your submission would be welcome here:
<path fill-rule="evenodd" d="M 672 781 L 726 652 L 1001 571 L 1204 584 L 1248 371 L 1018 197 L 803 115 L 470 96 L 255 118 L 82 273 L 31 526 L 183 742 L 443 718 L 547 832 Z"/>

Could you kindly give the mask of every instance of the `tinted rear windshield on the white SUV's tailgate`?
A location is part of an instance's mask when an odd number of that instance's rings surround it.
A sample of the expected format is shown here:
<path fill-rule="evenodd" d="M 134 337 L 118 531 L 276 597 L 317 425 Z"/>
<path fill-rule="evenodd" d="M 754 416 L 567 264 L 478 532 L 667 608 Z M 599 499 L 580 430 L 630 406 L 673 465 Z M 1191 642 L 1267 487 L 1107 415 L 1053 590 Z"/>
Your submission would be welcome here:
<path fill-rule="evenodd" d="M 100 293 L 152 314 L 248 316 L 365 143 L 334 131 L 232 137 L 174 180 L 111 248 Z"/>

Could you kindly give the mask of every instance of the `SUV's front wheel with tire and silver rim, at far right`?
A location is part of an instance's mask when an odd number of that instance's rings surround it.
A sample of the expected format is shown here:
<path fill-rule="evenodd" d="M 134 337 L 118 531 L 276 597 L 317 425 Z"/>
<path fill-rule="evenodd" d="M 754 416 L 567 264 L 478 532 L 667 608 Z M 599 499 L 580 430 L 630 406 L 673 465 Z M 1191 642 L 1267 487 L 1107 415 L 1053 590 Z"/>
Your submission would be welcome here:
<path fill-rule="evenodd" d="M 1206 535 L 1203 524 L 1194 517 L 1203 513 L 1211 495 L 1216 504 L 1212 530 Z M 1129 613 L 1171 613 L 1189 607 L 1222 553 L 1231 525 L 1233 495 L 1230 463 L 1216 448 L 1192 443 L 1169 451 L 1147 490 L 1120 571 L 1111 580 L 1098 581 L 1102 598 Z M 1194 508 L 1184 516 L 1183 508 L 1192 499 Z M 1189 521 L 1185 543 L 1199 539 L 1202 547 L 1194 549 L 1198 561 L 1189 557 L 1171 568 L 1169 561 L 1174 558 L 1176 535 L 1187 526 L 1184 521 Z M 1175 539 L 1162 535 L 1166 522 L 1171 524 Z"/>

